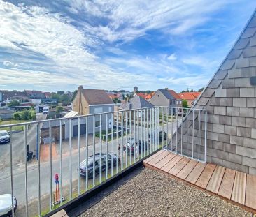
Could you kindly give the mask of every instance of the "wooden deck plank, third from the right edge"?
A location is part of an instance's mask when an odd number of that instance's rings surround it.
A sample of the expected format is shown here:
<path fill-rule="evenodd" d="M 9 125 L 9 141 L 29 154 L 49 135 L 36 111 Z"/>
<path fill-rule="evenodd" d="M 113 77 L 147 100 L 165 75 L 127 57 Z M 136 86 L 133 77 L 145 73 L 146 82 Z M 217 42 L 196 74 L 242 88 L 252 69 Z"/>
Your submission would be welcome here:
<path fill-rule="evenodd" d="M 236 170 L 226 168 L 225 174 L 222 179 L 222 183 L 220 184 L 218 195 L 230 200 L 232 195 L 235 175 L 236 175 Z"/>

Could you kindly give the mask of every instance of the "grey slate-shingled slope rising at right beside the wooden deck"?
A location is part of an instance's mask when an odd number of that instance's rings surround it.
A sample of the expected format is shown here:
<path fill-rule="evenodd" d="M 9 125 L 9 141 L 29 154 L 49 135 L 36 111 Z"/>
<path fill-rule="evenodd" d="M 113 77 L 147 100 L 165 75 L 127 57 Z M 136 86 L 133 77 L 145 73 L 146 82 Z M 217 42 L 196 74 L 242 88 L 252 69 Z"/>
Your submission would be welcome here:
<path fill-rule="evenodd" d="M 192 107 L 207 110 L 206 160 L 249 174 L 256 174 L 256 85 L 251 84 L 253 77 L 256 77 L 255 12 Z M 188 119 L 192 119 L 192 114 Z M 197 114 L 194 119 L 198 121 Z M 195 130 L 198 129 L 196 126 Z M 179 128 L 178 138 L 180 132 Z M 188 134 L 190 138 L 191 127 Z M 203 134 L 196 140 L 203 142 Z M 176 141 L 174 137 L 173 141 Z"/>

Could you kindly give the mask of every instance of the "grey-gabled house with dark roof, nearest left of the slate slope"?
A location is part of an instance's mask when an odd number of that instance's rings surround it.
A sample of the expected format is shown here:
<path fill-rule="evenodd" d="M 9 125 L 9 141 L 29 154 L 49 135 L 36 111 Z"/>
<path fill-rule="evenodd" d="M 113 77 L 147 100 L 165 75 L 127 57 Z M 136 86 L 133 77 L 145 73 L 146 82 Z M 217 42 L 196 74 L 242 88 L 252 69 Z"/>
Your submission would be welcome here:
<path fill-rule="evenodd" d="M 182 107 L 182 99 L 180 98 L 180 96 L 178 96 L 175 91 L 168 88 L 158 89 L 150 99 L 150 103 L 155 106 L 173 107 L 172 109 L 169 109 L 169 114 L 171 114 L 171 112 L 173 112 L 173 114 L 176 114 L 175 107 Z"/>

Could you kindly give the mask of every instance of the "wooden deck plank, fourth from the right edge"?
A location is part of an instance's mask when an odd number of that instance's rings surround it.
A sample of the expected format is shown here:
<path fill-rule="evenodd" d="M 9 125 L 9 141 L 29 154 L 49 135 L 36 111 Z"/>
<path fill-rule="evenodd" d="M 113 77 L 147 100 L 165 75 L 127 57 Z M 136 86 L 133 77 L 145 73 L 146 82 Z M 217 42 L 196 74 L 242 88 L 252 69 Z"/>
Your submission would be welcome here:
<path fill-rule="evenodd" d="M 211 176 L 210 181 L 208 182 L 206 190 L 209 190 L 217 194 L 220 188 L 220 184 L 221 184 L 224 173 L 225 173 L 225 167 L 217 166 L 213 172 L 213 175 Z"/>

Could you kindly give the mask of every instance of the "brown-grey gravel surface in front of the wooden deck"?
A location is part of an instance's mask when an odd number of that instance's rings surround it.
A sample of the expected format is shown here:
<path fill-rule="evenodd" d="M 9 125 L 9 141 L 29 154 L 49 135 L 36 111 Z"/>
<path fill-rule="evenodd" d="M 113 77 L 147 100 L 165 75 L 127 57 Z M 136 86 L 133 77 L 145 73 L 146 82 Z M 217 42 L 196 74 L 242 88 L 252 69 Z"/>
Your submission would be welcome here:
<path fill-rule="evenodd" d="M 253 215 L 219 197 L 145 168 L 81 216 Z"/>

